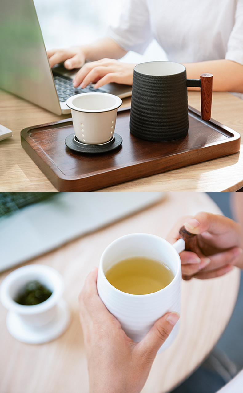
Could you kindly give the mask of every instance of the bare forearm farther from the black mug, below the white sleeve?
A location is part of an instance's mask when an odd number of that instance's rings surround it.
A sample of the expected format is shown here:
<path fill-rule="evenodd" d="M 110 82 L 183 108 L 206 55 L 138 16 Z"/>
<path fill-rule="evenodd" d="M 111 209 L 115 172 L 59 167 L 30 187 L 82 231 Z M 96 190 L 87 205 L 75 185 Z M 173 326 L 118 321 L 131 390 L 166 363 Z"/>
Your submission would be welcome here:
<path fill-rule="evenodd" d="M 104 37 L 92 44 L 81 46 L 85 59 L 96 61 L 107 57 L 109 59 L 120 59 L 127 51 L 122 49 L 115 41 L 109 37 Z"/>

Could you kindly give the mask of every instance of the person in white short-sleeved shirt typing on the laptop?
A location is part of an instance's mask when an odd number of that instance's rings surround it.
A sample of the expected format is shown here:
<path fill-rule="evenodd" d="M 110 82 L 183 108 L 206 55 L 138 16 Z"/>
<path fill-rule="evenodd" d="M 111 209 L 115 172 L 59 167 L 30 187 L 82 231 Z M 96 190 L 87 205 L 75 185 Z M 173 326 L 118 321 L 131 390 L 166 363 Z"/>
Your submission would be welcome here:
<path fill-rule="evenodd" d="M 243 93 L 243 1 L 125 0 L 120 20 L 89 45 L 48 51 L 51 67 L 81 68 L 74 86 L 90 82 L 132 84 L 134 64 L 120 62 L 129 50 L 143 53 L 153 38 L 188 78 L 214 75 L 213 90 Z M 85 61 L 89 61 L 84 64 Z"/>

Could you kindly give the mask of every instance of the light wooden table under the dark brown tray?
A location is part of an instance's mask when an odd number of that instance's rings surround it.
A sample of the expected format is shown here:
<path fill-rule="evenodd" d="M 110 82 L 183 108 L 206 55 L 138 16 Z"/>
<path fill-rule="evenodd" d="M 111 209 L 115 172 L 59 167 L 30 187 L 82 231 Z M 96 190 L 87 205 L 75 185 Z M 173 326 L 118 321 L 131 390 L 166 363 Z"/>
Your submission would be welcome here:
<path fill-rule="evenodd" d="M 123 106 L 130 100 L 125 99 Z M 67 116 L 56 116 L 11 94 L 0 92 L 0 123 L 13 137 L 0 141 L 0 191 L 56 191 L 20 144 L 20 131 Z M 199 92 L 189 92 L 189 105 L 200 110 Z M 212 119 L 243 136 L 243 100 L 214 92 Z M 242 142 L 243 143 L 243 138 Z M 243 187 L 243 154 L 231 154 L 99 191 L 237 191 Z"/>

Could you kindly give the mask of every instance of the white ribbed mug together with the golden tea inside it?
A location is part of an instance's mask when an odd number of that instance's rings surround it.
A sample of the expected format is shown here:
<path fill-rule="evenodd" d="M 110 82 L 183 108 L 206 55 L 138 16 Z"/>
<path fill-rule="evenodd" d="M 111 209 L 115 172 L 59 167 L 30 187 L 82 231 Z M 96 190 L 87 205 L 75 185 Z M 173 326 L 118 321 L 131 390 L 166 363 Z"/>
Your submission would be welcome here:
<path fill-rule="evenodd" d="M 97 278 L 98 294 L 132 341 L 140 342 L 154 323 L 166 312 L 176 311 L 180 314 L 181 261 L 179 252 L 184 248 L 185 242 L 182 239 L 171 245 L 159 236 L 131 233 L 114 240 L 103 251 Z M 134 260 L 135 262 L 137 260 L 136 266 L 134 266 Z M 142 267 L 142 260 L 145 264 L 149 263 L 148 268 Z M 123 265 L 127 261 L 129 269 L 124 268 Z M 157 284 L 163 277 L 163 273 L 155 270 L 154 274 L 151 262 L 163 264 L 164 268 L 170 270 L 172 274 L 167 283 L 159 283 L 160 288 Z M 120 264 L 122 264 L 121 268 Z M 130 266 L 132 266 L 131 270 Z M 115 276 L 118 280 L 116 283 L 111 281 L 109 275 L 113 268 L 116 270 Z M 123 278 L 125 278 L 125 283 L 129 283 L 130 288 L 120 287 Z M 152 288 L 148 289 L 147 281 L 154 283 Z M 177 323 L 159 352 L 164 351 L 174 342 L 179 327 L 180 323 Z"/>

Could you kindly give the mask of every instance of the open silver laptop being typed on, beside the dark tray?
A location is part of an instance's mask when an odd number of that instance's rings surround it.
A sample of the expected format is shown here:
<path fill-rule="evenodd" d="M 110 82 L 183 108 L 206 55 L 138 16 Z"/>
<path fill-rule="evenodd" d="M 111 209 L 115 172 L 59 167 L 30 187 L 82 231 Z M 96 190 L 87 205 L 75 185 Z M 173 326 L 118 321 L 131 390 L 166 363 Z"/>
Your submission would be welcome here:
<path fill-rule="evenodd" d="M 33 0 L 1 0 L 0 88 L 57 115 L 70 113 L 65 101 L 74 94 L 100 91 L 120 98 L 131 95 L 132 86 L 116 83 L 100 89 L 93 85 L 73 88 L 76 72 L 69 72 L 62 64 L 51 70 Z M 56 86 L 61 86 L 60 92 Z"/>

